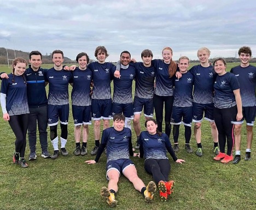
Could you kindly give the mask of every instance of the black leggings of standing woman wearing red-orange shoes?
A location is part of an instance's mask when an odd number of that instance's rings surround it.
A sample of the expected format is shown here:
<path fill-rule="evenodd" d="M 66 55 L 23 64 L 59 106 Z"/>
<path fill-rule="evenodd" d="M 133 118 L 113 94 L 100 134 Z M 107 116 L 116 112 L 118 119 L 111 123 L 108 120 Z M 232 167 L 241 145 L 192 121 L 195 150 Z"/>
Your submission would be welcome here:
<path fill-rule="evenodd" d="M 234 147 L 234 124 L 231 121 L 236 120 L 237 107 L 232 106 L 226 109 L 218 109 L 214 107 L 213 110 L 214 121 L 218 129 L 219 150 L 225 153 L 225 145 L 227 143 L 226 154 L 231 155 Z"/>

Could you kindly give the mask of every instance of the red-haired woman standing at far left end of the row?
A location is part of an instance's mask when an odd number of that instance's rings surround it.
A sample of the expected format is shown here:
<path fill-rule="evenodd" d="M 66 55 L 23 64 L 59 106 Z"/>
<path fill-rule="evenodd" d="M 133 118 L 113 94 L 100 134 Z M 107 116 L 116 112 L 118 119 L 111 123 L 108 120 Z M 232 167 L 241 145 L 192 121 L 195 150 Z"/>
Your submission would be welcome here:
<path fill-rule="evenodd" d="M 3 119 L 9 121 L 10 127 L 16 136 L 13 163 L 27 167 L 24 159 L 26 148 L 26 134 L 28 127 L 27 83 L 24 76 L 27 62 L 24 58 L 13 61 L 13 73 L 8 79 L 2 80 L 1 106 Z"/>

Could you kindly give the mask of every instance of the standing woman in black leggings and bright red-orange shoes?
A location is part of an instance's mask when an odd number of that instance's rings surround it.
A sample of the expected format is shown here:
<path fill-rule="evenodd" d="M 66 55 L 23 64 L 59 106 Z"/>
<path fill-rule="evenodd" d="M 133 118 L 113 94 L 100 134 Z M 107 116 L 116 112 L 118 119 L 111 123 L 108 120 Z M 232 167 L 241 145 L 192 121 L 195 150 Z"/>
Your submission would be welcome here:
<path fill-rule="evenodd" d="M 226 72 L 226 62 L 223 58 L 216 59 L 213 65 L 218 74 L 214 83 L 213 116 L 218 129 L 220 148 L 220 153 L 213 159 L 229 163 L 233 160 L 234 124 L 243 117 L 240 87 L 236 76 Z M 225 153 L 226 143 L 228 148 Z"/>

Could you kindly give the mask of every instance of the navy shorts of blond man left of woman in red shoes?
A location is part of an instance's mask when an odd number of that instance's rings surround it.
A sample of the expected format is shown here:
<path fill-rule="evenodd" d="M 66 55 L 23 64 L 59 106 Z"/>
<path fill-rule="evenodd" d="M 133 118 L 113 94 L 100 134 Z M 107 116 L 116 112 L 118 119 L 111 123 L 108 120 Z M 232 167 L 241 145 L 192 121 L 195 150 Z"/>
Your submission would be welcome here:
<path fill-rule="evenodd" d="M 211 104 L 198 104 L 193 102 L 193 122 L 202 122 L 203 112 L 205 112 L 205 119 L 214 122 L 213 117 L 214 103 Z"/>

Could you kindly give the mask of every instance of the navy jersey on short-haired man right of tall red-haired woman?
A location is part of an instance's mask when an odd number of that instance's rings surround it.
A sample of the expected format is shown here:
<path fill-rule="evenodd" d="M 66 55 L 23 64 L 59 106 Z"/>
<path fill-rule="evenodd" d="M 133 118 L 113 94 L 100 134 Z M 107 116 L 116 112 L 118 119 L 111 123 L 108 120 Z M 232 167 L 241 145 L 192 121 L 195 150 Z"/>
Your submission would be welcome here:
<path fill-rule="evenodd" d="M 190 107 L 193 106 L 193 85 L 194 76 L 188 71 L 182 74 L 181 78 L 174 81 L 173 106 Z"/>

